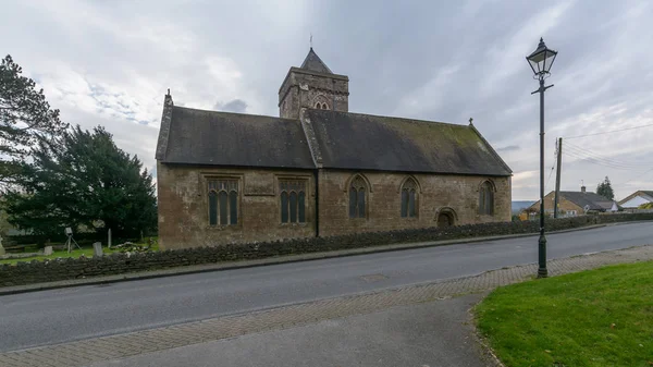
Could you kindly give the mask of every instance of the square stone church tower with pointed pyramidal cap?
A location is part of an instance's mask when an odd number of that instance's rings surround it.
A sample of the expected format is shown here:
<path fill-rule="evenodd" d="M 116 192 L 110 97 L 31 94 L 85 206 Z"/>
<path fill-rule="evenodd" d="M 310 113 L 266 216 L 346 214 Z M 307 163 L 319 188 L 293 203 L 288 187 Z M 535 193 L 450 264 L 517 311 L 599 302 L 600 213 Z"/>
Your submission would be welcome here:
<path fill-rule="evenodd" d="M 334 74 L 312 47 L 299 68 L 291 68 L 279 88 L 279 115 L 299 119 L 303 108 L 349 111 L 349 77 Z"/>

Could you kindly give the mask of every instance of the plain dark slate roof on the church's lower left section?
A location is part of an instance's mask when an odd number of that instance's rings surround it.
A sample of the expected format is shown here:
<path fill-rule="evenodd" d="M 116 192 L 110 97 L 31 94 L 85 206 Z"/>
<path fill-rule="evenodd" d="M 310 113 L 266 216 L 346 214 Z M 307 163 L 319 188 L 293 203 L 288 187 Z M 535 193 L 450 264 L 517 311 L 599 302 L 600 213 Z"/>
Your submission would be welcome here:
<path fill-rule="evenodd" d="M 171 107 L 164 163 L 313 169 L 298 120 Z M 164 132 L 165 126 L 161 126 Z"/>

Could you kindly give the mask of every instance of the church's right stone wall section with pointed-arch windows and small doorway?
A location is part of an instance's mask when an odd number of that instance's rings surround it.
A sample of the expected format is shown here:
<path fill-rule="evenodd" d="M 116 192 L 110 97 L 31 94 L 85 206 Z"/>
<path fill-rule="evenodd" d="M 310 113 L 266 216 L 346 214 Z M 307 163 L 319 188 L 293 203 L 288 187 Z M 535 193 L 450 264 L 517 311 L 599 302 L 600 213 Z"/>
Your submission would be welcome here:
<path fill-rule="evenodd" d="M 367 218 L 349 218 L 347 186 L 354 172 L 321 170 L 319 175 L 320 235 L 393 231 L 438 225 L 438 212 L 451 208 L 455 225 L 510 221 L 510 178 L 414 174 L 418 182 L 417 218 L 401 217 L 399 187 L 408 174 L 362 172 L 371 185 Z M 479 215 L 479 186 L 490 180 L 496 187 L 494 215 Z M 447 209 L 444 209 L 447 210 Z"/>

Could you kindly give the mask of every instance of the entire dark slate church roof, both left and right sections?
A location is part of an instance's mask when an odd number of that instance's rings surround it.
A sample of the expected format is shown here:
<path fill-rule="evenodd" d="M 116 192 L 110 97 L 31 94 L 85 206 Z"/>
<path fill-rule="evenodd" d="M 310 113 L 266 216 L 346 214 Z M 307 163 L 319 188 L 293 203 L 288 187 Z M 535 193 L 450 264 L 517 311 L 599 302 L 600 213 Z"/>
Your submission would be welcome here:
<path fill-rule="evenodd" d="M 344 170 L 512 174 L 472 125 L 311 109 L 303 125 L 167 102 L 157 147 L 163 163 L 315 169 L 317 161 Z"/>

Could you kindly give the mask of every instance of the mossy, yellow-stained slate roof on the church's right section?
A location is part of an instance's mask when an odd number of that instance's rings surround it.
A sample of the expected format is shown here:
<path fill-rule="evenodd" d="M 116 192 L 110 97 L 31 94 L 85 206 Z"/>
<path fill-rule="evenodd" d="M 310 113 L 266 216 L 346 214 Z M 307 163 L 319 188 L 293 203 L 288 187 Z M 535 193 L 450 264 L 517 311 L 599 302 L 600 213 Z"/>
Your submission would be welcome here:
<path fill-rule="evenodd" d="M 323 168 L 480 175 L 512 171 L 473 125 L 306 110 Z"/>

